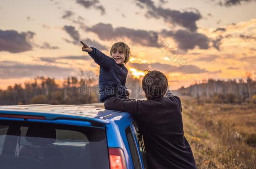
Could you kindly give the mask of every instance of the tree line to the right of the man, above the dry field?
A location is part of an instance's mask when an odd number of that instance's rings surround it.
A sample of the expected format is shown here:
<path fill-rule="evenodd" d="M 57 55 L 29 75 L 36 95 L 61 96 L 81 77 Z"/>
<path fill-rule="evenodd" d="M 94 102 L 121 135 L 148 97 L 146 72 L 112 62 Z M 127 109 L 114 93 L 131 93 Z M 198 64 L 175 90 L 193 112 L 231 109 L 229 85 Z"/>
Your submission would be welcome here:
<path fill-rule="evenodd" d="M 256 81 L 251 73 L 246 73 L 246 79 L 237 80 L 204 80 L 202 83 L 181 87 L 177 90 L 180 95 L 207 97 L 219 103 L 241 103 L 248 99 L 256 100 Z"/>

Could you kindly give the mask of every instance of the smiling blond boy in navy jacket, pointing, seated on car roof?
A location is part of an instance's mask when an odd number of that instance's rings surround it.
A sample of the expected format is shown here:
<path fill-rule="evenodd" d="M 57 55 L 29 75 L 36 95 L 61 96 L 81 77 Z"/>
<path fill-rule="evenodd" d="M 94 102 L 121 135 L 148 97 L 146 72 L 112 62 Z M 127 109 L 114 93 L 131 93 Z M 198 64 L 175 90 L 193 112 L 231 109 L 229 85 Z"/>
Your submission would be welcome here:
<path fill-rule="evenodd" d="M 106 101 L 112 96 L 127 98 L 125 87 L 128 70 L 124 64 L 129 61 L 130 48 L 123 42 L 115 43 L 110 49 L 110 56 L 105 55 L 97 48 L 90 48 L 83 44 L 82 50 L 88 52 L 99 68 L 99 100 Z"/>

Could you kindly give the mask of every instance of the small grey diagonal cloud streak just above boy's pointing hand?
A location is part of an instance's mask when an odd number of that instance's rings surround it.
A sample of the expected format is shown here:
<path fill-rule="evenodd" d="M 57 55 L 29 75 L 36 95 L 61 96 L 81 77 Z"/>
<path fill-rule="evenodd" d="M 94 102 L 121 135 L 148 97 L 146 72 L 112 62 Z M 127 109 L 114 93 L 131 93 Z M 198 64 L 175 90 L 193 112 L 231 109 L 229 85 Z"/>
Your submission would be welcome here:
<path fill-rule="evenodd" d="M 75 27 L 73 26 L 64 26 L 64 30 L 71 36 L 71 38 L 73 39 L 73 41 L 70 41 L 68 39 L 64 39 L 66 42 L 68 43 L 73 43 L 74 45 L 81 45 L 80 41 L 80 34 L 78 33 L 78 31 L 76 30 Z M 89 45 L 89 46 L 93 46 L 98 48 L 99 50 L 107 50 L 107 47 L 105 45 L 101 45 L 100 43 L 98 43 L 95 40 L 91 40 L 89 38 L 86 38 L 84 40 L 82 40 L 85 44 Z"/>

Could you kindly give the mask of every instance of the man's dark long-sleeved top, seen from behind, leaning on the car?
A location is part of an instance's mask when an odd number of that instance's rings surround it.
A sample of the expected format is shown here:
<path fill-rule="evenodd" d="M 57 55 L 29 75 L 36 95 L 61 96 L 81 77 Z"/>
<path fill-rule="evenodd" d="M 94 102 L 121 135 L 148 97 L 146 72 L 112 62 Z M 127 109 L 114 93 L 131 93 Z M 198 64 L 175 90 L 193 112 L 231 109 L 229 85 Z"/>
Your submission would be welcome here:
<path fill-rule="evenodd" d="M 170 91 L 166 96 L 137 101 L 112 97 L 104 106 L 134 116 L 144 137 L 148 169 L 196 169 L 184 136 L 180 98 Z"/>

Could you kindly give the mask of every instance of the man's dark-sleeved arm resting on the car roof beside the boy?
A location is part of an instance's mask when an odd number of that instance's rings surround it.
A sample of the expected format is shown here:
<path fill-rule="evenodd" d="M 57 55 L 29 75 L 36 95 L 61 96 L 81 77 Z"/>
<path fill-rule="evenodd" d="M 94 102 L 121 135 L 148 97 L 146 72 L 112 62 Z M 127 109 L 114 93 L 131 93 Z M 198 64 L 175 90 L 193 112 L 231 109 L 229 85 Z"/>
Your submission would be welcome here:
<path fill-rule="evenodd" d="M 141 100 L 125 100 L 117 97 L 112 97 L 105 101 L 104 106 L 106 109 L 116 110 L 116 111 L 126 111 L 131 114 L 138 115 L 140 112 L 140 106 L 143 101 Z"/>

